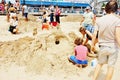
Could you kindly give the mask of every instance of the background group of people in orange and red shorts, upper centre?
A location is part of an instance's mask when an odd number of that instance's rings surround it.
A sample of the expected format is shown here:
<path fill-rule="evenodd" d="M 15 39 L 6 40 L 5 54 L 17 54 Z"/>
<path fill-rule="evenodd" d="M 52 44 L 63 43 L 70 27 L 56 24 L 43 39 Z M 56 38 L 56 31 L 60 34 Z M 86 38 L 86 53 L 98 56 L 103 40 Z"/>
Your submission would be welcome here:
<path fill-rule="evenodd" d="M 49 30 L 49 27 L 54 27 L 54 26 L 59 26 L 60 24 L 60 14 L 61 10 L 58 6 L 54 8 L 53 5 L 49 7 L 48 10 L 43 11 L 42 15 L 42 29 L 47 29 Z M 48 16 L 50 16 L 48 20 Z"/>

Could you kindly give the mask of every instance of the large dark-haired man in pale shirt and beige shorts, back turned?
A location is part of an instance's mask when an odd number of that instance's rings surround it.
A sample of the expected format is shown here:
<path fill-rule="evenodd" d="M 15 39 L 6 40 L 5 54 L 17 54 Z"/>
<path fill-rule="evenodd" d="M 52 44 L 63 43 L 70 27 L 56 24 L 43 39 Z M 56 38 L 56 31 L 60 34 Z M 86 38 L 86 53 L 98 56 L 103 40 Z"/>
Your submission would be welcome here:
<path fill-rule="evenodd" d="M 111 80 L 114 72 L 114 65 L 118 57 L 118 44 L 120 45 L 120 18 L 115 12 L 118 9 L 117 2 L 109 1 L 105 6 L 106 15 L 96 20 L 95 31 L 92 38 L 92 48 L 98 32 L 98 64 L 92 80 L 97 80 L 103 64 L 108 64 L 104 80 Z"/>

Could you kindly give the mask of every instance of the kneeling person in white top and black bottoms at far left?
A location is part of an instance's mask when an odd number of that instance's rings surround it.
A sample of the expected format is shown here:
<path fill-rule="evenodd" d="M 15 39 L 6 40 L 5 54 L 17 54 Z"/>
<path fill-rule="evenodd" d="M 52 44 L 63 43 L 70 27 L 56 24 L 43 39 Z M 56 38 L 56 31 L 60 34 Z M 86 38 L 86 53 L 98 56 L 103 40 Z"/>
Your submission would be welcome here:
<path fill-rule="evenodd" d="M 13 16 L 12 19 L 10 20 L 10 27 L 9 27 L 9 31 L 13 34 L 16 34 L 18 32 L 18 18 L 17 16 Z"/>

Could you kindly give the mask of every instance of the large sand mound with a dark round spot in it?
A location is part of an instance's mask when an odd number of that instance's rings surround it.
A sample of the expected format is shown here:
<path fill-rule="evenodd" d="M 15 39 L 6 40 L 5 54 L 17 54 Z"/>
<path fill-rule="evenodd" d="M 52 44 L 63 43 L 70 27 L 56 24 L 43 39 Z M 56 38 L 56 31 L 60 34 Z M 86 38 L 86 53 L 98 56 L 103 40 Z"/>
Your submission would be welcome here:
<path fill-rule="evenodd" d="M 80 70 L 68 62 L 68 55 L 74 54 L 71 41 L 76 35 L 70 33 L 68 36 L 69 38 L 61 31 L 53 31 L 50 34 L 37 35 L 35 38 L 24 37 L 1 42 L 0 64 L 7 64 L 9 67 L 15 63 L 24 66 L 28 72 L 68 80 L 67 78 Z M 57 44 L 56 40 L 59 41 Z M 69 76 L 65 75 L 66 73 Z"/>

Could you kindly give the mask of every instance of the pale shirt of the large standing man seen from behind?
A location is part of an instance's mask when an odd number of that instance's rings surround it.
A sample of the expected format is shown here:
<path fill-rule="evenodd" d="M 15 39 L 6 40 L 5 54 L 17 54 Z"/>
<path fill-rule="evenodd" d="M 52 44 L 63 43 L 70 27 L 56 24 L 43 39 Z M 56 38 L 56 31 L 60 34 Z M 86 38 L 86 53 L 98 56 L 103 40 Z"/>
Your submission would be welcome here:
<path fill-rule="evenodd" d="M 107 14 L 96 20 L 95 29 L 99 31 L 100 45 L 114 46 L 116 44 L 116 27 L 120 27 L 120 19 L 115 14 Z"/>

